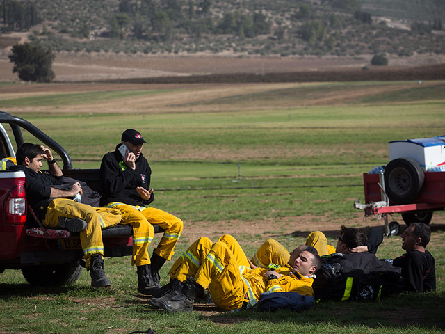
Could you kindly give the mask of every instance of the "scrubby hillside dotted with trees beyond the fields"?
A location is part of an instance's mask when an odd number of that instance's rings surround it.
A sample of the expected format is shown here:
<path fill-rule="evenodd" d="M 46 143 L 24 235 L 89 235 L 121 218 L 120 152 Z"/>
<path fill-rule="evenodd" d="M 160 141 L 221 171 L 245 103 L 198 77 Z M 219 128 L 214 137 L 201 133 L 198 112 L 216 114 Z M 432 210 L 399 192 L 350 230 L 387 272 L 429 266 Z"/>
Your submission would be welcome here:
<path fill-rule="evenodd" d="M 440 0 L 51 0 L 31 39 L 55 51 L 260 56 L 444 54 Z"/>

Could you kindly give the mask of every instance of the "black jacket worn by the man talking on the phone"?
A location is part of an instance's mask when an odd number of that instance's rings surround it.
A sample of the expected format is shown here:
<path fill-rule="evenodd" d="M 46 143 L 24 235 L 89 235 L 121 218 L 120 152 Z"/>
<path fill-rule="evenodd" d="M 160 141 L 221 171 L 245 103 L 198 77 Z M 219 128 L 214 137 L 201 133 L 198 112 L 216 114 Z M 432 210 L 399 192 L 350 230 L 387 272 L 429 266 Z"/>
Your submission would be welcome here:
<path fill-rule="evenodd" d="M 109 152 L 102 158 L 100 165 L 100 181 L 102 198 L 100 204 L 106 205 L 110 202 L 122 202 L 128 205 L 146 205 L 154 201 L 154 194 L 149 200 L 143 200 L 136 187 L 141 186 L 150 189 L 150 177 L 152 169 L 147 159 L 140 154 L 136 159 L 136 169 L 127 168 L 122 155 L 116 146 L 114 152 Z"/>

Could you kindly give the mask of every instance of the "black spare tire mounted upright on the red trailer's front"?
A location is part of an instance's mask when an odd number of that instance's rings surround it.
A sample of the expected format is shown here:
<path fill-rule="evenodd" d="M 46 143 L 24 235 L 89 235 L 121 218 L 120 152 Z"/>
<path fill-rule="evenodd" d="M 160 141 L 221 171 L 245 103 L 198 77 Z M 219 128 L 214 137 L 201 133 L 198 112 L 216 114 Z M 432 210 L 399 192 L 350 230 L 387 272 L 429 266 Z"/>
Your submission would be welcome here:
<path fill-rule="evenodd" d="M 396 204 L 410 204 L 421 196 L 425 173 L 416 161 L 398 158 L 385 167 L 385 191 Z"/>

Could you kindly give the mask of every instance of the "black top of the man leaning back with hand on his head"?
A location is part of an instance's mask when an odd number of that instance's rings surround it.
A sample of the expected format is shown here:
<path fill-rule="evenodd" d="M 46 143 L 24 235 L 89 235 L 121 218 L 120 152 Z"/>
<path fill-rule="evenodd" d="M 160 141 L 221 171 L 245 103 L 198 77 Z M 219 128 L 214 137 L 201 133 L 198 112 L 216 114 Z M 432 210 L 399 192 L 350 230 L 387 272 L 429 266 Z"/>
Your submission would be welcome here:
<path fill-rule="evenodd" d="M 25 166 L 11 166 L 9 170 L 22 170 L 25 173 L 26 200 L 38 218 L 44 219 L 51 202 L 51 187 L 63 184 L 63 176 L 53 176 L 47 172 L 35 172 Z"/>

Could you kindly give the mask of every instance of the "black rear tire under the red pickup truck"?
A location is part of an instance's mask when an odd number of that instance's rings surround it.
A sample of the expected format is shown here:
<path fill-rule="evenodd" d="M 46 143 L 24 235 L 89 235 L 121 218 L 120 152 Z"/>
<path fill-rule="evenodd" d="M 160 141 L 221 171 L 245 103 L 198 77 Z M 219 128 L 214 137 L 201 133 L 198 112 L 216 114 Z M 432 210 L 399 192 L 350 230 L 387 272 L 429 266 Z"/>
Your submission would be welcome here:
<path fill-rule="evenodd" d="M 22 268 L 26 281 L 31 285 L 40 287 L 59 287 L 71 284 L 79 279 L 82 267 L 77 262 L 63 264 L 44 264 Z"/>

